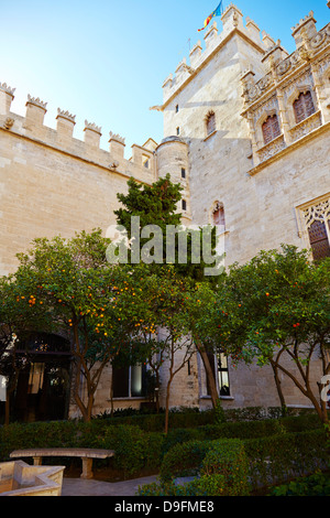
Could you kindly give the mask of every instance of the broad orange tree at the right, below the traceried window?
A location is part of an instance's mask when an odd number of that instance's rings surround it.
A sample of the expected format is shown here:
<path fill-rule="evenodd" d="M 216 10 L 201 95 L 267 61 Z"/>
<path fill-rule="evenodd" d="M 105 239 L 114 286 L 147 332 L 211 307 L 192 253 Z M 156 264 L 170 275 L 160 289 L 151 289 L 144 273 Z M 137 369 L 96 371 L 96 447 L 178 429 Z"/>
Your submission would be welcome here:
<path fill-rule="evenodd" d="M 328 422 L 322 395 L 330 374 L 330 259 L 311 262 L 308 251 L 284 245 L 262 251 L 219 278 L 217 299 L 199 322 L 215 349 L 234 361 L 271 365 L 282 403 L 279 373 Z"/>

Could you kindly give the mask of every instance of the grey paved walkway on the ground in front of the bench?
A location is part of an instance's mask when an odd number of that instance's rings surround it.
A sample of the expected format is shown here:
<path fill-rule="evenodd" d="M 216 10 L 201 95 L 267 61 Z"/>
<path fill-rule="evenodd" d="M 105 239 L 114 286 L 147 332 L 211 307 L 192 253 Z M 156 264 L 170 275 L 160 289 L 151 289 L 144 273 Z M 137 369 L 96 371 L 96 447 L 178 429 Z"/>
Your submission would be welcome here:
<path fill-rule="evenodd" d="M 139 486 L 156 482 L 157 476 L 117 483 L 82 478 L 63 478 L 62 496 L 135 496 Z"/>

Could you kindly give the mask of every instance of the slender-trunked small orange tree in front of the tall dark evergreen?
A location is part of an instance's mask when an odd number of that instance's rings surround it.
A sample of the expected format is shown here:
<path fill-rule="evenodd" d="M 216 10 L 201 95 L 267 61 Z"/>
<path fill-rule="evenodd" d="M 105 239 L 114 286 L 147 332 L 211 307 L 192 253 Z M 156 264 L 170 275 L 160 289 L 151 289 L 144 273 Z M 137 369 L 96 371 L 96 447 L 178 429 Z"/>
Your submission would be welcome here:
<path fill-rule="evenodd" d="M 121 269 L 123 274 L 124 269 Z M 131 322 L 130 346 L 135 361 L 147 361 L 160 387 L 161 371 L 167 371 L 165 389 L 165 433 L 168 431 L 170 389 L 175 376 L 195 354 L 187 315 L 191 280 L 176 273 L 175 266 L 154 270 L 151 265 L 127 267 L 113 303 Z"/>

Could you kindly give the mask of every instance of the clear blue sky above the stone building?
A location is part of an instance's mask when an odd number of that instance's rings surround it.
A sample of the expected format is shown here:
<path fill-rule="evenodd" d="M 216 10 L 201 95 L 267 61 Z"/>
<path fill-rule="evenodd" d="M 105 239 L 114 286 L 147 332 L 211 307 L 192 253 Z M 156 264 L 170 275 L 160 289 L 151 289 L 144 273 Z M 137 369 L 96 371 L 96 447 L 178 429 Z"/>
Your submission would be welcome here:
<path fill-rule="evenodd" d="M 162 84 L 202 41 L 201 28 L 219 0 L 0 0 L 0 83 L 16 88 L 12 110 L 25 114 L 28 94 L 48 102 L 45 123 L 56 127 L 57 108 L 133 143 L 160 142 Z M 224 7 L 230 1 L 224 1 Z M 274 40 L 293 52 L 290 28 L 314 10 L 318 29 L 330 21 L 327 0 L 235 0 Z M 220 18 L 216 19 L 221 29 Z"/>

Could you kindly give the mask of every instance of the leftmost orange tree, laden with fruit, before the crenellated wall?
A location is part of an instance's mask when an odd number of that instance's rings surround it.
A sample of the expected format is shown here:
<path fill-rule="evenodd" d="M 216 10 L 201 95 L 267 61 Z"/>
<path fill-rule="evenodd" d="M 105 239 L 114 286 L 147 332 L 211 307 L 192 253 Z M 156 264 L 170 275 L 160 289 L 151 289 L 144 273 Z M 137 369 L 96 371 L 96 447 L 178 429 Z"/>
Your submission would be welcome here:
<path fill-rule="evenodd" d="M 26 306 L 42 307 L 51 315 L 53 330 L 70 337 L 74 399 L 89 421 L 101 374 L 129 342 L 130 322 L 118 315 L 112 303 L 119 269 L 107 262 L 109 240 L 100 230 L 82 231 L 68 240 L 36 239 L 33 245 L 18 256 L 15 290 Z"/>

